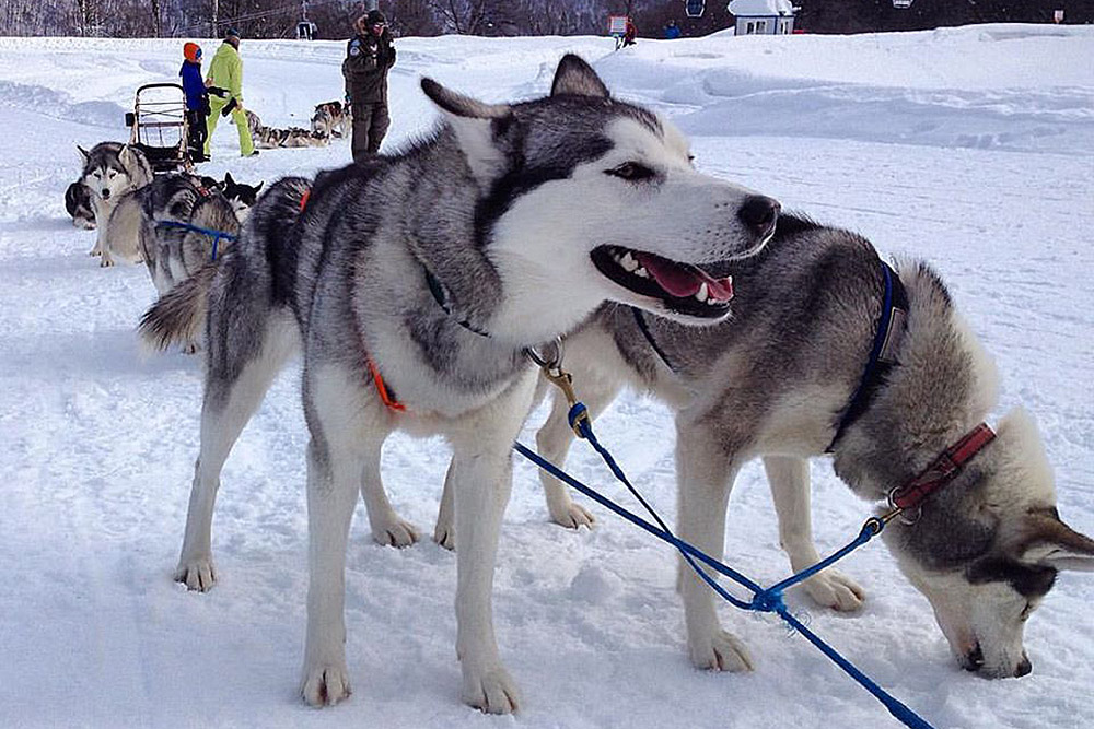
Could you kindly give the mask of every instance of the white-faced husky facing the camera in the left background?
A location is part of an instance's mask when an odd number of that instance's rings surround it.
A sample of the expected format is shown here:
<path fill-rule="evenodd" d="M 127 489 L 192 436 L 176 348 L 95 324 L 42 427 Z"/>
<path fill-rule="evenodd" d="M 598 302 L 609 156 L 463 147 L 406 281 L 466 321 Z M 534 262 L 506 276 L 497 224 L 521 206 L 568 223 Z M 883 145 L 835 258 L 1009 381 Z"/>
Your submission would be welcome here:
<path fill-rule="evenodd" d="M 118 142 L 101 142 L 91 151 L 77 146 L 83 155 L 83 174 L 80 181 L 91 190 L 91 208 L 95 211 L 95 226 L 98 235 L 92 256 L 102 256 L 101 266 L 114 266 L 114 255 L 130 261 L 137 261 L 138 251 L 125 245 L 135 238 L 127 236 L 119 239 L 119 246 L 109 245 L 107 223 L 115 205 L 126 192 L 144 187 L 152 181 L 152 166 L 144 153 L 136 146 Z"/>

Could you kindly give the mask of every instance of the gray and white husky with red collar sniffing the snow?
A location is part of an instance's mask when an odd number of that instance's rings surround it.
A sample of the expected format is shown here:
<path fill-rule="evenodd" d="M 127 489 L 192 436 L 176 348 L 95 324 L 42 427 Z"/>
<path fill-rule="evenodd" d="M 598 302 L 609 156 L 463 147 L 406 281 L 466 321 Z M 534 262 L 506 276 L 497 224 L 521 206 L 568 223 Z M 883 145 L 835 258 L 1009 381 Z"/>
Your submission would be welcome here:
<path fill-rule="evenodd" d="M 734 316 L 712 327 L 605 305 L 568 338 L 566 367 L 594 415 L 625 385 L 675 410 L 678 533 L 714 557 L 723 554 L 736 473 L 761 456 L 780 542 L 800 571 L 819 560 L 807 458 L 831 444 L 837 475 L 859 496 L 883 501 L 984 421 L 996 403 L 996 372 L 938 275 L 907 263 L 899 270 L 906 325 L 896 322 L 888 351 L 896 364 L 846 419 L 882 310 L 883 273 L 870 243 L 782 215 L 772 242 L 734 264 L 733 278 Z M 556 398 L 537 435 L 540 454 L 555 463 L 572 442 L 567 410 Z M 555 521 L 592 521 L 561 483 L 542 478 Z M 449 521 L 439 522 L 439 539 Z M 1021 409 L 1002 418 L 996 439 L 921 505 L 917 520 L 893 521 L 883 537 L 930 601 L 957 661 L 985 677 L 1028 673 L 1026 619 L 1058 569 L 1094 568 L 1094 541 L 1060 520 L 1040 437 Z M 749 668 L 744 646 L 721 627 L 711 590 L 683 563 L 678 587 L 691 661 Z M 835 569 L 804 588 L 837 610 L 863 599 Z"/>

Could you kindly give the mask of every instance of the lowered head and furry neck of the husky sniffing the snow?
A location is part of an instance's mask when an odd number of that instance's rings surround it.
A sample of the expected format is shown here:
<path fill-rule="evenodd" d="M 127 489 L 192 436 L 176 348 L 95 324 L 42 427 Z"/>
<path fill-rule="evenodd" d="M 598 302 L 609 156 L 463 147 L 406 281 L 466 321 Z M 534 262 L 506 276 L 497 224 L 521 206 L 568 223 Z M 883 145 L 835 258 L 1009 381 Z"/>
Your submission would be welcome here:
<path fill-rule="evenodd" d="M 926 267 L 901 279 L 911 306 L 900 366 L 836 448 L 837 472 L 871 495 L 926 469 L 996 401 L 994 367 L 941 281 Z M 1032 670 L 1022 644 L 1026 619 L 1058 571 L 1094 569 L 1094 541 L 1059 518 L 1033 420 L 1016 409 L 997 431 L 912 520 L 883 532 L 958 663 L 987 678 Z"/>

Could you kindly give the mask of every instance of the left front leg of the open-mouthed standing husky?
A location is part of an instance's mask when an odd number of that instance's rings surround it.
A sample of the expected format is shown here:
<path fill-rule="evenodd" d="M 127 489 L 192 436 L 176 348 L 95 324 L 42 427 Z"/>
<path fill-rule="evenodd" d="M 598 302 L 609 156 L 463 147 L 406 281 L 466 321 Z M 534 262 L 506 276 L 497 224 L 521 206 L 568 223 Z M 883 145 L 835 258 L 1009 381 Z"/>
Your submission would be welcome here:
<path fill-rule="evenodd" d="M 346 548 L 361 474 L 388 430 L 375 393 L 339 365 L 305 367 L 307 444 L 307 637 L 301 696 L 312 706 L 350 694 L 346 668 Z"/>

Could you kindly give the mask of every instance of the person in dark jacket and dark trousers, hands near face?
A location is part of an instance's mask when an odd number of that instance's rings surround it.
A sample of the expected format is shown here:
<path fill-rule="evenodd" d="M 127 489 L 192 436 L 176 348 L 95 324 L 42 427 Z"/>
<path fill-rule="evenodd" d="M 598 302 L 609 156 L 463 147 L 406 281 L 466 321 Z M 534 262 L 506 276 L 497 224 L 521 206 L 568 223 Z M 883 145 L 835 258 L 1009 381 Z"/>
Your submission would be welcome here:
<path fill-rule="evenodd" d="M 354 23 L 357 35 L 346 47 L 342 75 L 346 103 L 353 116 L 353 160 L 361 162 L 380 150 L 391 119 L 387 116 L 387 71 L 395 66 L 395 45 L 387 19 L 370 10 Z"/>

